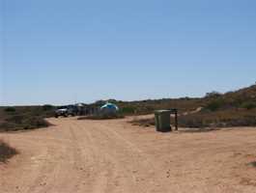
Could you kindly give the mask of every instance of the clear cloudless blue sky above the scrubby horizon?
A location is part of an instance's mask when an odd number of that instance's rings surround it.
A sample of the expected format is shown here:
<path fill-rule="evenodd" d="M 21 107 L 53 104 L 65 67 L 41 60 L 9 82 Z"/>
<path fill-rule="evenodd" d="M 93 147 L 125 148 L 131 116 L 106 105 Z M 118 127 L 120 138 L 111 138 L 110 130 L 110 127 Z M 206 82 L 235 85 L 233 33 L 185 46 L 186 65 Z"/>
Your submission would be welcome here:
<path fill-rule="evenodd" d="M 0 7 L 0 105 L 204 96 L 256 81 L 255 0 Z"/>

